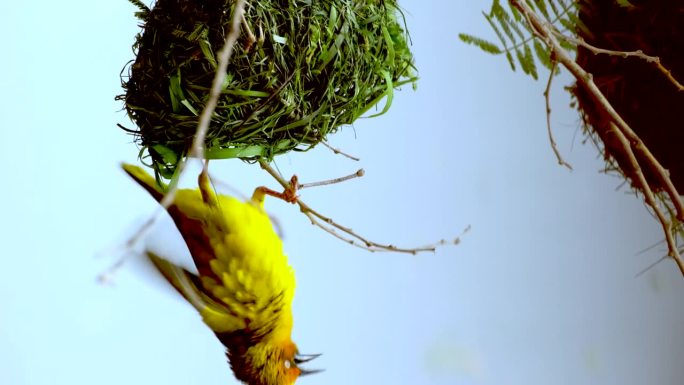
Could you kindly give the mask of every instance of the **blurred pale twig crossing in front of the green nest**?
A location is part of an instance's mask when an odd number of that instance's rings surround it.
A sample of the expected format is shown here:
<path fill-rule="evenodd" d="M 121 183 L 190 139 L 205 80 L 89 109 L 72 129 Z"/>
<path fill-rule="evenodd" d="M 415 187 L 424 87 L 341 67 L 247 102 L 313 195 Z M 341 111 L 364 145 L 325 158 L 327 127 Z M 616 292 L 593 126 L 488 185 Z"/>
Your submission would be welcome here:
<path fill-rule="evenodd" d="M 226 78 L 228 63 L 230 62 L 230 57 L 233 54 L 233 46 L 235 45 L 235 42 L 240 36 L 240 21 L 242 19 L 242 15 L 244 14 L 244 8 L 245 0 L 238 0 L 235 4 L 235 8 L 233 11 L 231 29 L 228 32 L 228 35 L 226 36 L 225 45 L 219 52 L 218 68 L 216 70 L 216 73 L 214 74 L 214 80 L 211 85 L 211 90 L 209 92 L 207 104 L 204 106 L 202 114 L 199 117 L 197 131 L 195 132 L 195 137 L 193 138 L 192 146 L 190 148 L 190 157 L 198 159 L 204 158 L 204 140 L 207 136 L 207 131 L 209 130 L 211 115 L 214 113 L 216 105 L 218 104 L 218 99 L 221 96 L 221 87 L 223 86 L 223 82 Z M 145 223 L 143 223 L 140 229 L 131 238 L 128 239 L 128 241 L 125 244 L 125 247 L 127 249 L 133 249 L 135 245 L 137 245 L 138 242 L 140 242 L 140 240 L 149 232 L 152 226 L 154 226 L 160 214 L 173 204 L 173 201 L 176 198 L 176 192 L 178 191 L 178 180 L 185 171 L 185 164 L 185 160 L 181 160 L 178 163 L 178 177 L 171 181 L 168 191 L 164 195 L 164 198 L 162 198 L 162 200 L 159 202 L 159 205 L 161 207 L 157 210 L 157 212 L 150 216 L 150 218 L 148 218 L 147 221 L 145 221 Z M 121 266 L 123 266 L 126 260 L 126 256 L 127 255 L 124 255 L 123 257 L 119 258 L 119 260 L 117 260 L 105 273 L 101 274 L 98 277 L 98 281 L 109 281 L 111 279 L 111 276 Z"/>

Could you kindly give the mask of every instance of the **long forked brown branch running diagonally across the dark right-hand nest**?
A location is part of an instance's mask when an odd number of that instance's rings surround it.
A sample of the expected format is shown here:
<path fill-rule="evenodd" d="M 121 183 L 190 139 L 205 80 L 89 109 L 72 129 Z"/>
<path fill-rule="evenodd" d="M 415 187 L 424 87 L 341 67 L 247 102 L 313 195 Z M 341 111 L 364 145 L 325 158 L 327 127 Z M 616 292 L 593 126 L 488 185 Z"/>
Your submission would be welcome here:
<path fill-rule="evenodd" d="M 672 223 L 665 218 L 665 215 L 658 207 L 658 204 L 655 200 L 655 195 L 653 194 L 653 191 L 651 190 L 643 172 L 641 171 L 641 166 L 637 156 L 641 158 L 642 161 L 648 165 L 656 175 L 658 181 L 665 188 L 665 191 L 667 191 L 670 200 L 675 206 L 677 218 L 682 221 L 684 220 L 684 205 L 679 197 L 679 193 L 670 180 L 667 170 L 662 167 L 658 160 L 648 150 L 641 138 L 639 138 L 639 136 L 615 111 L 613 106 L 594 83 L 591 74 L 587 73 L 562 48 L 556 38 L 557 32 L 555 32 L 555 28 L 552 25 L 544 22 L 525 1 L 511 0 L 511 4 L 520 10 L 535 36 L 537 36 L 546 44 L 547 47 L 549 47 L 558 62 L 567 68 L 570 73 L 572 73 L 572 75 L 577 79 L 578 83 L 581 84 L 593 98 L 596 105 L 601 108 L 610 119 L 608 130 L 616 136 L 619 143 L 622 145 L 622 150 L 624 151 L 628 161 L 630 162 L 631 166 L 634 167 L 636 175 L 635 182 L 637 183 L 637 186 L 641 188 L 646 203 L 651 207 L 651 209 L 653 209 L 661 226 L 663 227 L 663 231 L 665 232 L 668 255 L 674 259 L 680 272 L 682 275 L 684 275 L 684 262 L 680 257 L 677 243 L 672 234 Z"/>

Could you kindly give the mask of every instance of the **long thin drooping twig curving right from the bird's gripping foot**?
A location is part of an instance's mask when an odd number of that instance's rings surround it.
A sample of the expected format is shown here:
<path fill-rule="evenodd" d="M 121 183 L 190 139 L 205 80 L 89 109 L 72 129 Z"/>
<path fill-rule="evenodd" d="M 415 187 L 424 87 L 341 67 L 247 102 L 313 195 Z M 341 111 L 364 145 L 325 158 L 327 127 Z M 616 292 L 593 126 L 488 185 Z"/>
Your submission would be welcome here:
<path fill-rule="evenodd" d="M 271 167 L 265 161 L 259 161 L 259 164 L 261 165 L 261 168 L 266 170 L 266 172 L 269 173 L 273 179 L 275 179 L 285 190 L 292 189 L 294 187 L 291 186 L 288 181 L 286 181 L 280 174 L 278 174 L 278 172 L 273 169 L 273 167 Z M 415 248 L 402 248 L 391 244 L 380 244 L 359 235 L 349 227 L 338 224 L 332 218 L 322 215 L 299 198 L 295 199 L 294 203 L 296 203 L 299 206 L 299 210 L 309 218 L 312 225 L 321 228 L 323 231 L 331 234 L 345 243 L 371 252 L 389 251 L 415 255 L 420 252 L 434 252 L 437 246 L 440 245 L 460 243 L 460 237 L 457 237 L 451 242 L 442 239 L 434 244 Z M 467 232 L 469 228 L 470 227 L 466 228 L 463 233 Z"/>

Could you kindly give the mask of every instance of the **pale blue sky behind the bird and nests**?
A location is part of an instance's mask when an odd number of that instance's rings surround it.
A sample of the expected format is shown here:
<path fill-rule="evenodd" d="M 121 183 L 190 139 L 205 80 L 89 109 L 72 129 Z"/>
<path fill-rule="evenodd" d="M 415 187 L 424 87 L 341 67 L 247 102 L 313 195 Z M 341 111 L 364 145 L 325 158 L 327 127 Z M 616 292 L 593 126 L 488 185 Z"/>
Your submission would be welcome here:
<path fill-rule="evenodd" d="M 303 182 L 363 167 L 301 196 L 372 239 L 413 246 L 472 230 L 434 255 L 370 254 L 270 200 L 298 278 L 293 337 L 324 353 L 309 367 L 326 371 L 298 383 L 679 384 L 684 280 L 670 261 L 635 278 L 665 252 L 639 254 L 660 228 L 598 173 L 567 78 L 553 127 L 573 172 L 548 144 L 544 82 L 457 39 L 492 37 L 489 1 L 402 4 L 418 90 L 330 138 L 360 163 L 320 148 L 277 164 Z M 138 152 L 113 100 L 133 12 L 124 0 L 0 5 L 0 384 L 236 383 L 191 307 L 135 263 L 96 283 L 155 210 L 118 168 Z M 212 171 L 247 195 L 276 186 L 237 161 Z M 168 220 L 152 236 L 181 245 Z"/>

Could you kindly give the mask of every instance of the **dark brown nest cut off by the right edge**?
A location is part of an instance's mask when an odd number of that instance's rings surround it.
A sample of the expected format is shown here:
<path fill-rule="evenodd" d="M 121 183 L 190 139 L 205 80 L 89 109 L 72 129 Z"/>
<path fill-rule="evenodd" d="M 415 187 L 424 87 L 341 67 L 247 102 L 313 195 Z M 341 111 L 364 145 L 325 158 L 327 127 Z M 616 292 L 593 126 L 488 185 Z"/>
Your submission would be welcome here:
<path fill-rule="evenodd" d="M 621 3 L 621 4 L 618 4 Z M 684 7 L 679 1 L 579 0 L 577 34 L 587 43 L 614 51 L 637 51 L 660 57 L 675 79 L 684 80 Z M 636 57 L 596 55 L 578 47 L 577 63 L 670 173 L 675 188 L 684 192 L 684 92 L 655 66 Z M 614 166 L 633 183 L 636 170 L 611 137 L 609 121 L 582 87 L 575 87 L 585 122 L 603 142 Z M 654 191 L 664 186 L 649 168 L 642 168 Z"/>

